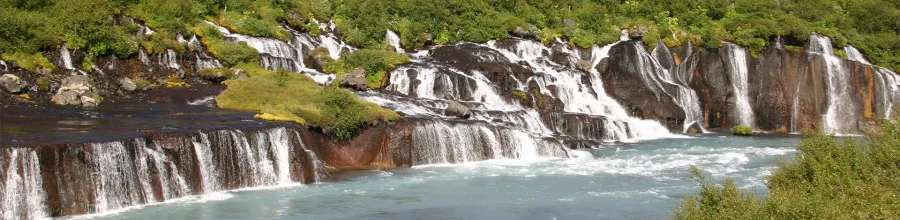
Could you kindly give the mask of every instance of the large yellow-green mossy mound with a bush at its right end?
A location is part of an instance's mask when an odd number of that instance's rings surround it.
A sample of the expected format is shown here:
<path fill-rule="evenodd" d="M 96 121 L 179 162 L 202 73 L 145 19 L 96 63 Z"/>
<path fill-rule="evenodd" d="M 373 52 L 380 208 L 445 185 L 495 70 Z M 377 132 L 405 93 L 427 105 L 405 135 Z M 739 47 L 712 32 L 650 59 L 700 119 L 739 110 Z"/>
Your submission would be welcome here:
<path fill-rule="evenodd" d="M 337 140 L 354 137 L 368 123 L 400 116 L 360 100 L 337 87 L 321 87 L 309 77 L 285 70 L 268 71 L 242 65 L 251 77 L 229 80 L 216 97 L 220 108 L 257 112 L 257 118 L 321 127 Z"/>

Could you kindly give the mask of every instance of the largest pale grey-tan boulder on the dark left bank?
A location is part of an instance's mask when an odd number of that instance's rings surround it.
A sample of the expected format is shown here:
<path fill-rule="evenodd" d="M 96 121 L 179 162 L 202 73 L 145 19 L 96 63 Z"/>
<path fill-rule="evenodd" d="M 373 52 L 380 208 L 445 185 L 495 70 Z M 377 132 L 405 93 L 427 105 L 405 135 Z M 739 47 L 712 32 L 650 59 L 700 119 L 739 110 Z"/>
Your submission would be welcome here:
<path fill-rule="evenodd" d="M 62 86 L 51 101 L 58 105 L 96 107 L 100 104 L 101 98 L 91 86 L 88 76 L 74 75 L 63 80 Z"/>

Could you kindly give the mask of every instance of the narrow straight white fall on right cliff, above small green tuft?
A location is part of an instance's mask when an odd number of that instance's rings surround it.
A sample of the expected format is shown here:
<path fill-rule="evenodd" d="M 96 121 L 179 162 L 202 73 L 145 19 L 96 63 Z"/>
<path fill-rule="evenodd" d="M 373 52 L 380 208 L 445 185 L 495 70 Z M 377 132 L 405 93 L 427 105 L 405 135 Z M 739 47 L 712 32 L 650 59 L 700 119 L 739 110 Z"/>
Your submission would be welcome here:
<path fill-rule="evenodd" d="M 750 106 L 750 89 L 747 85 L 747 76 L 749 74 L 747 63 L 747 49 L 736 44 L 725 43 L 725 57 L 728 66 L 729 79 L 731 79 L 731 89 L 734 91 L 734 109 L 737 113 L 736 120 L 739 125 L 755 128 L 755 119 L 753 116 L 753 108 Z"/>

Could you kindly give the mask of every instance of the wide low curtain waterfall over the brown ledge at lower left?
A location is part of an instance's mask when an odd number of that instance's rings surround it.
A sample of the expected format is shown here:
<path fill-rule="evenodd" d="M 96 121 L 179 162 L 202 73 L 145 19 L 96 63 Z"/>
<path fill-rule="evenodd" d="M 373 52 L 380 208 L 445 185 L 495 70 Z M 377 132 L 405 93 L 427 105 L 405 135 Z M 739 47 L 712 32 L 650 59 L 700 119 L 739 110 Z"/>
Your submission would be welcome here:
<path fill-rule="evenodd" d="M 50 155 L 38 155 L 30 148 L 0 149 L 2 219 L 45 217 L 51 208 L 53 213 L 102 213 L 222 190 L 327 180 L 322 162 L 305 146 L 299 133 L 288 128 L 249 134 L 221 130 L 67 148 L 71 150 L 60 149 Z M 294 156 L 310 160 L 293 164 Z M 78 165 L 53 165 L 47 167 L 52 170 L 41 170 L 39 157 L 48 158 L 50 163 L 73 161 Z M 301 166 L 311 167 L 314 179 L 304 179 L 303 173 L 308 171 Z M 292 178 L 292 174 L 299 178 Z M 43 175 L 54 175 L 50 178 L 53 182 L 45 186 Z M 58 186 L 60 192 L 47 195 L 47 186 Z M 48 196 L 63 205 L 48 207 Z M 68 205 L 75 203 L 81 205 Z"/>

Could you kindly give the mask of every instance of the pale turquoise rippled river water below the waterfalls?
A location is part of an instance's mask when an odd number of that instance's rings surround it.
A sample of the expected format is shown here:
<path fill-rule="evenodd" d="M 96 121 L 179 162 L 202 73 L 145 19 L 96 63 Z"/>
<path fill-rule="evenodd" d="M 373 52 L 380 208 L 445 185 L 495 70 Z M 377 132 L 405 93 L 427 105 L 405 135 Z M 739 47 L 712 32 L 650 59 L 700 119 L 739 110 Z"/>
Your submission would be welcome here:
<path fill-rule="evenodd" d="M 494 160 L 346 172 L 337 182 L 190 197 L 108 219 L 659 219 L 697 191 L 695 165 L 764 193 L 796 137 L 652 140 L 578 151 L 577 158 Z"/>

